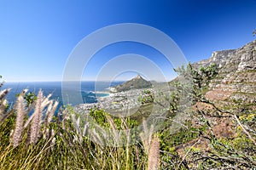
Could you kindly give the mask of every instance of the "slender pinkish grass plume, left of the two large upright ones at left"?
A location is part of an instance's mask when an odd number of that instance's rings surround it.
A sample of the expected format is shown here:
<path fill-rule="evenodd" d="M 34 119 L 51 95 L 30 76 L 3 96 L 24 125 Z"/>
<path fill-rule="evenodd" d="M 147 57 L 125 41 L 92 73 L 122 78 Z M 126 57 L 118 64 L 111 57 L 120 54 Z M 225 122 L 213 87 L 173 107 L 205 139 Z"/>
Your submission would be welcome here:
<path fill-rule="evenodd" d="M 24 124 L 24 118 L 26 115 L 24 95 L 26 94 L 26 92 L 27 92 L 27 89 L 23 90 L 23 92 L 18 96 L 16 107 L 15 107 L 17 116 L 16 116 L 15 132 L 12 139 L 14 146 L 17 146 L 20 144 L 21 133 L 24 130 L 23 124 Z"/>

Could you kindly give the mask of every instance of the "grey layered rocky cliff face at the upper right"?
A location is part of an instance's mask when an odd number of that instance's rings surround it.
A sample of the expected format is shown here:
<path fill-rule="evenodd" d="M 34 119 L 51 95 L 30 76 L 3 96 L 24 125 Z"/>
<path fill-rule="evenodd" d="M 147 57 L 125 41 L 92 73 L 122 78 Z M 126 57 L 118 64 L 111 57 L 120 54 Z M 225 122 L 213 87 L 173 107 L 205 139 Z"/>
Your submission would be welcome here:
<path fill-rule="evenodd" d="M 238 49 L 216 51 L 209 59 L 201 60 L 195 68 L 216 63 L 218 76 L 209 88 L 231 92 L 233 99 L 254 100 L 256 96 L 256 40 Z"/>

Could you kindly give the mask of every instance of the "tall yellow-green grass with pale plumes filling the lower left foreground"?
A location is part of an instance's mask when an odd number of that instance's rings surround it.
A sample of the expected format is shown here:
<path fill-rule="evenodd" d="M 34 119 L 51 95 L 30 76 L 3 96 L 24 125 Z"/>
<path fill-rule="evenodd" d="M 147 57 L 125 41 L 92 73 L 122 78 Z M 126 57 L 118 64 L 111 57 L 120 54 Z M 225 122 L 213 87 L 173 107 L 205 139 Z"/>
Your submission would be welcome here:
<path fill-rule="evenodd" d="M 17 97 L 14 108 L 1 110 L 1 116 L 9 114 L 9 117 L 2 119 L 0 126 L 0 169 L 151 169 L 150 149 L 145 149 L 142 143 L 108 145 L 96 128 L 90 129 L 86 123 L 80 128 L 83 121 L 72 108 L 54 116 L 56 101 L 44 97 L 40 90 L 37 99 L 26 105 L 25 94 L 26 90 Z M 4 96 L 2 108 L 3 99 Z M 30 111 L 33 114 L 29 117 Z M 106 116 L 106 121 L 115 138 L 112 142 L 118 142 L 118 128 L 127 127 L 128 123 L 122 122 L 117 127 L 110 116 Z M 152 148 L 159 151 L 155 146 Z"/>

